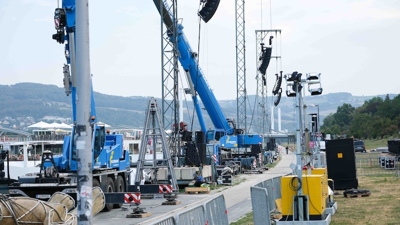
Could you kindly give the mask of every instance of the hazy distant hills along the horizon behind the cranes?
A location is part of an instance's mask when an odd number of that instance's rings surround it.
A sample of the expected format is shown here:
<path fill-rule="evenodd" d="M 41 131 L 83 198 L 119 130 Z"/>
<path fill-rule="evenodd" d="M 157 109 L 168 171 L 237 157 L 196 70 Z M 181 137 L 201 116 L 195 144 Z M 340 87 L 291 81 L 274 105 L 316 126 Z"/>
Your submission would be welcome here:
<path fill-rule="evenodd" d="M 16 83 L 14 85 L 0 85 L 0 119 L 4 117 L 12 117 L 21 119 L 28 116 L 33 117 L 35 122 L 40 121 L 45 115 L 54 115 L 64 118 L 72 117 L 71 96 L 66 96 L 63 87 L 56 85 L 40 84 L 40 83 Z M 378 95 L 384 97 L 385 94 Z M 394 94 L 390 94 L 393 97 Z M 343 103 L 349 103 L 354 107 L 358 107 L 374 96 L 352 96 L 350 93 L 328 93 L 315 96 L 307 96 L 306 104 L 319 104 L 321 121 L 324 116 L 334 113 L 337 106 Z M 143 126 L 144 113 L 150 96 L 115 96 L 94 92 L 94 101 L 96 105 L 97 119 L 114 127 L 137 128 Z M 187 102 L 183 103 L 184 110 L 183 120 L 190 124 L 193 120 L 193 128 L 197 129 L 198 122 L 196 117 L 192 119 L 193 107 L 191 98 L 187 98 Z M 160 99 L 158 99 L 160 102 Z M 273 105 L 274 98 L 267 96 L 265 109 L 268 111 L 270 118 L 270 107 Z M 251 118 L 256 118 L 257 107 L 254 107 L 255 96 L 247 96 L 247 123 L 251 123 Z M 219 101 L 225 116 L 236 119 L 236 100 Z M 293 119 L 295 98 L 282 96 L 278 107 L 281 108 L 282 129 L 292 131 L 295 126 Z M 313 110 L 316 111 L 316 108 Z M 253 112 L 254 111 L 254 112 Z M 205 112 L 205 111 L 204 111 Z M 275 110 L 276 113 L 276 110 Z M 204 113 L 204 120 L 209 127 L 212 124 Z M 196 116 L 194 114 L 194 116 Z M 275 119 L 277 116 L 275 115 Z M 269 123 L 269 122 L 267 122 Z M 254 124 L 254 122 L 252 122 Z M 20 125 L 20 121 L 15 120 L 14 124 L 1 124 L 4 127 L 15 125 L 15 128 L 24 128 Z M 277 124 L 275 123 L 275 128 Z"/>

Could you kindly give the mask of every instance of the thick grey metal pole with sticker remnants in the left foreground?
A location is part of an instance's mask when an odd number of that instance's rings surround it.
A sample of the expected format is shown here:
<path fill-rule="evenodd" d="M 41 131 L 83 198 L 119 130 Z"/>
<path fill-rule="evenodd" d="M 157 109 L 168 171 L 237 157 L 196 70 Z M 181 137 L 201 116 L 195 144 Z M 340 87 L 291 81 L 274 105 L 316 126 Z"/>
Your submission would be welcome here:
<path fill-rule="evenodd" d="M 92 220 L 88 0 L 76 1 L 76 154 L 78 224 Z"/>

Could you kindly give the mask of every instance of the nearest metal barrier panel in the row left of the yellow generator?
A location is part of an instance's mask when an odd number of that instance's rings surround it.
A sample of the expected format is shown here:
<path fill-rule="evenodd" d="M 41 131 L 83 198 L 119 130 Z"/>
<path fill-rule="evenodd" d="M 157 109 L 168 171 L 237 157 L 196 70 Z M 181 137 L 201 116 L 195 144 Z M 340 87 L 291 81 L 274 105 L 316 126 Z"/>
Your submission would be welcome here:
<path fill-rule="evenodd" d="M 271 218 L 269 216 L 269 200 L 266 188 L 251 186 L 250 194 L 254 225 L 270 225 Z"/>

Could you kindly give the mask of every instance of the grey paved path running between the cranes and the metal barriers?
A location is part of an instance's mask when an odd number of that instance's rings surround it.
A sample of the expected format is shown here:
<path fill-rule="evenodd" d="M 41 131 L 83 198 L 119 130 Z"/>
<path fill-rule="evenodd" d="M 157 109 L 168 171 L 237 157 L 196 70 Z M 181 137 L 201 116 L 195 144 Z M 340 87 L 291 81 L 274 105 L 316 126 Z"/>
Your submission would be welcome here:
<path fill-rule="evenodd" d="M 292 153 L 286 154 L 284 150 L 281 150 L 281 156 L 282 159 L 277 163 L 277 165 L 269 170 L 264 170 L 263 173 L 240 174 L 239 176 L 235 176 L 234 179 L 245 179 L 245 181 L 237 185 L 226 186 L 224 189 L 222 188 L 222 191 L 221 188 L 218 188 L 212 190 L 208 194 L 179 194 L 177 199 L 181 201 L 181 204 L 178 205 L 161 205 L 165 199 L 142 198 L 140 207 L 145 207 L 146 212 L 152 213 L 151 216 L 144 218 L 126 218 L 126 214 L 131 213 L 131 210 L 122 211 L 121 209 L 112 209 L 109 212 L 99 212 L 95 215 L 93 217 L 93 224 L 149 224 L 165 216 L 175 215 L 179 211 L 201 204 L 220 193 L 223 194 L 225 199 L 229 222 L 236 221 L 241 216 L 251 211 L 251 185 L 291 172 L 289 165 L 290 163 L 296 163 L 295 155 Z"/>

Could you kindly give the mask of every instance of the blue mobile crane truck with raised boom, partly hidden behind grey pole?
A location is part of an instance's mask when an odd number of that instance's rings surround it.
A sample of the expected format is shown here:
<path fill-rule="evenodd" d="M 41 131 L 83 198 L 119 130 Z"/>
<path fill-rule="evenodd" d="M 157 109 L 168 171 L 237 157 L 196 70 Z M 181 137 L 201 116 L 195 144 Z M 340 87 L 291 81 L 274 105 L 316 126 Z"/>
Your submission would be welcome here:
<path fill-rule="evenodd" d="M 52 38 L 58 43 L 65 42 L 66 64 L 63 66 L 65 94 L 71 95 L 74 125 L 71 135 L 64 136 L 62 154 L 53 155 L 45 150 L 40 171 L 20 176 L 10 186 L 11 196 L 28 196 L 48 199 L 56 191 L 70 194 L 76 199 L 77 158 L 76 158 L 76 83 L 75 83 L 75 0 L 62 0 L 62 7 L 54 12 L 56 34 Z M 69 70 L 71 66 L 71 71 Z M 90 74 L 87 74 L 90 75 Z M 124 203 L 124 191 L 130 182 L 129 152 L 123 149 L 122 134 L 110 134 L 104 123 L 98 123 L 91 88 L 91 130 L 92 130 L 92 175 L 93 186 L 99 186 L 105 193 L 105 207 L 120 207 Z M 115 194 L 117 193 L 117 194 Z"/>

